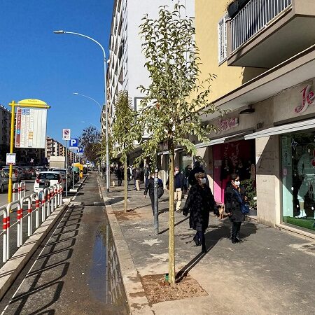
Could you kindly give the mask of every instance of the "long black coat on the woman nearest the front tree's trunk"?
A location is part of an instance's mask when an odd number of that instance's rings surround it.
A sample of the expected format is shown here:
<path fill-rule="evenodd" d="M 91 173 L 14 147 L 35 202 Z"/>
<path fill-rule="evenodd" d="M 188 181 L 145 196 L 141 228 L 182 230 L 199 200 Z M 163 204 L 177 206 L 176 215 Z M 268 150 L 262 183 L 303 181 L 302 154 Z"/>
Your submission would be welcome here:
<path fill-rule="evenodd" d="M 189 190 L 184 209 L 189 209 L 189 225 L 196 231 L 204 232 L 209 225 L 209 212 L 214 210 L 214 195 L 211 189 L 196 184 Z"/>

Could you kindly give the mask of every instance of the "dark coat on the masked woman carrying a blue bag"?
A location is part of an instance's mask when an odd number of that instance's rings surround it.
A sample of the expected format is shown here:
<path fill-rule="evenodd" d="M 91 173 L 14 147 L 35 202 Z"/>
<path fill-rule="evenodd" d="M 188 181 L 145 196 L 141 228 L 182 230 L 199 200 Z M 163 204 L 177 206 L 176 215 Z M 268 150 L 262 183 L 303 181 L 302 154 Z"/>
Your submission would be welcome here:
<path fill-rule="evenodd" d="M 244 201 L 245 197 L 245 188 L 243 186 L 239 186 L 241 199 Z M 224 192 L 224 204 L 225 204 L 225 212 L 231 213 L 230 221 L 232 222 L 243 222 L 245 221 L 244 214 L 241 213 L 241 203 L 236 195 L 236 190 L 232 188 L 232 183 L 228 183 L 228 186 Z"/>

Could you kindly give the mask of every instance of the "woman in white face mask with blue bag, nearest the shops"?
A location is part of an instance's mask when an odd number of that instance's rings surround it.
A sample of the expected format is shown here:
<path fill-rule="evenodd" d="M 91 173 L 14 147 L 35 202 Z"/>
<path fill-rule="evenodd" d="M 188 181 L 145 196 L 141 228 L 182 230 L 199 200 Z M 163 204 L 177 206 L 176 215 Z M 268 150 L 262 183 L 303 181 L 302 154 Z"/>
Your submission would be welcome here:
<path fill-rule="evenodd" d="M 241 223 L 245 221 L 245 216 L 241 212 L 240 200 L 246 201 L 245 188 L 240 185 L 239 175 L 232 174 L 231 181 L 228 183 L 225 189 L 225 212 L 230 216 L 232 222 L 232 243 L 241 243 L 239 239 L 239 230 L 241 229 Z"/>

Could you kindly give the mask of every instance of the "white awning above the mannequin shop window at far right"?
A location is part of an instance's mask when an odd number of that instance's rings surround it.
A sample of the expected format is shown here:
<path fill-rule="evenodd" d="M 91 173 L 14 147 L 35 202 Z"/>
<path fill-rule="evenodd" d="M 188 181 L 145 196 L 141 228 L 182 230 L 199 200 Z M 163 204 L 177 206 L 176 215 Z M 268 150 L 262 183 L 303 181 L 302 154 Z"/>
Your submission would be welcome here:
<path fill-rule="evenodd" d="M 254 132 L 253 134 L 248 134 L 245 139 L 255 139 L 262 137 L 274 136 L 275 134 L 286 134 L 288 132 L 297 132 L 299 130 L 315 129 L 315 119 L 309 119 L 300 121 L 298 123 L 290 123 L 286 125 L 280 125 L 276 127 L 270 127 L 265 130 L 260 130 L 259 132 Z"/>

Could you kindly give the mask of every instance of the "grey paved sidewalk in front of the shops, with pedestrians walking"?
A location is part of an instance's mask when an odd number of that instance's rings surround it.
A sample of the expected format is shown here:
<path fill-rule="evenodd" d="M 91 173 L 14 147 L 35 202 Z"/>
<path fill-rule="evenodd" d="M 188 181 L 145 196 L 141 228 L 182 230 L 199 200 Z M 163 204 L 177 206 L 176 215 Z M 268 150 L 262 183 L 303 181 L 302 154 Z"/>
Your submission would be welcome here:
<path fill-rule="evenodd" d="M 133 185 L 129 188 L 128 209 L 133 211 L 127 215 L 118 212 L 123 210 L 123 186 L 111 188 L 108 195 L 108 209 L 116 214 L 123 235 L 123 239 L 115 240 L 116 247 L 127 243 L 128 255 L 137 269 L 134 274 L 165 274 L 167 190 L 159 204 L 160 235 L 155 235 L 150 199 L 144 199 L 143 188 L 140 192 L 133 190 Z M 151 308 L 142 309 L 139 304 L 134 314 L 315 314 L 314 243 L 246 222 L 240 235 L 244 243 L 232 244 L 228 218 L 221 221 L 211 214 L 206 234 L 208 252 L 201 255 L 201 248 L 193 242 L 195 231 L 188 228 L 188 218 L 176 213 L 175 221 L 176 272 L 189 270 L 209 295 L 160 302 Z M 120 265 L 125 265 L 127 255 L 118 251 L 118 256 Z M 126 281 L 124 269 L 122 272 Z"/>

